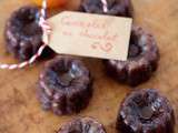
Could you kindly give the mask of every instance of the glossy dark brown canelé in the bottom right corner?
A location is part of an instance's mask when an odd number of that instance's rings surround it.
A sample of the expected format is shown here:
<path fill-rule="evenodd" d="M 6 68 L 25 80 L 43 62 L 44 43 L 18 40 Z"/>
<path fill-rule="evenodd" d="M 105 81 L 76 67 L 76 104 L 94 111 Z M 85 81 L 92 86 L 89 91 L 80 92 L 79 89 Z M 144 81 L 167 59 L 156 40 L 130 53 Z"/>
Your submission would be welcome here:
<path fill-rule="evenodd" d="M 121 103 L 117 119 L 121 133 L 174 133 L 174 109 L 157 90 L 134 91 Z"/>

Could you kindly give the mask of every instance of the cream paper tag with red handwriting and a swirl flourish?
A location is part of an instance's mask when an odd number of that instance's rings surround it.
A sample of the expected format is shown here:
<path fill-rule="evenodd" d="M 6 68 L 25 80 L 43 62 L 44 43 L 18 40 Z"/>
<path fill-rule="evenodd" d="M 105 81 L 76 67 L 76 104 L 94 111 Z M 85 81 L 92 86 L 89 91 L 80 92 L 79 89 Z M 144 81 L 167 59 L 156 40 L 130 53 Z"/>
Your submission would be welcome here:
<path fill-rule="evenodd" d="M 127 60 L 131 19 L 65 11 L 48 21 L 57 53 Z"/>

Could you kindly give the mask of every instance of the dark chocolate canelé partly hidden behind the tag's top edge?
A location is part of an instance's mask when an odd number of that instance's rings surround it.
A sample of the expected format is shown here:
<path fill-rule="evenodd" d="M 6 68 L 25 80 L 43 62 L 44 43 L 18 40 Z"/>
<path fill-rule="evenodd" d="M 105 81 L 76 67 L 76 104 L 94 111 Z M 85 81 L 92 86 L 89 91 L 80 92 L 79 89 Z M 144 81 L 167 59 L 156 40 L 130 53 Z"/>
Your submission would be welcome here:
<path fill-rule="evenodd" d="M 79 11 L 88 13 L 110 14 L 119 17 L 132 17 L 132 4 L 130 0 L 107 0 L 108 12 L 105 12 L 101 0 L 82 0 Z"/>

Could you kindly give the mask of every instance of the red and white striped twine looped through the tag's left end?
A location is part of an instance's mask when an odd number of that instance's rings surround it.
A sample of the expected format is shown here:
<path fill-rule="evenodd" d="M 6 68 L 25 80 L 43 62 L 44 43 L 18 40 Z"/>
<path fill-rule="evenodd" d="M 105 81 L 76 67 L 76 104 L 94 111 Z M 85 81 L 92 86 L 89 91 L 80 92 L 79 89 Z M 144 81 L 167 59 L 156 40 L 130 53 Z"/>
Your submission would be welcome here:
<path fill-rule="evenodd" d="M 49 34 L 51 32 L 51 28 L 46 21 L 46 10 L 47 10 L 47 0 L 43 0 L 42 9 L 41 9 L 41 17 L 39 21 L 39 25 L 43 30 L 43 38 L 42 38 L 43 44 L 39 48 L 38 52 L 33 57 L 31 57 L 28 61 L 24 61 L 19 64 L 0 64 L 0 69 L 9 69 L 9 70 L 22 69 L 27 65 L 32 64 L 41 55 L 42 51 L 49 43 Z"/>

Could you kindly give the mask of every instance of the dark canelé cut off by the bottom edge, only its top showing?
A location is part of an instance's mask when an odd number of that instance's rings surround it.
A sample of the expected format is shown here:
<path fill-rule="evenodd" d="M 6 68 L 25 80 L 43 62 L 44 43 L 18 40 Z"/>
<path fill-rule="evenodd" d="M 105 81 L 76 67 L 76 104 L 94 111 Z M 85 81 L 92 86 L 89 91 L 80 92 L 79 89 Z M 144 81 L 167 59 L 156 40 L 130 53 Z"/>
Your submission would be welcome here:
<path fill-rule="evenodd" d="M 106 133 L 106 130 L 91 117 L 78 117 L 63 125 L 57 133 Z"/>

